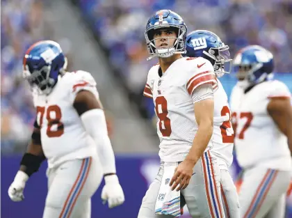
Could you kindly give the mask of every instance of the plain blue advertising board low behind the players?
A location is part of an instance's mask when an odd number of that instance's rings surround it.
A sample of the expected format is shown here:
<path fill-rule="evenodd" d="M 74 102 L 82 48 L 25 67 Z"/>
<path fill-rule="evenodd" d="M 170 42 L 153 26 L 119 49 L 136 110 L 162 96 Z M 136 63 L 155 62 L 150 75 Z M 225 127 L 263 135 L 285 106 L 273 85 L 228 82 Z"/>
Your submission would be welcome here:
<path fill-rule="evenodd" d="M 45 175 L 47 163 L 44 163 L 40 171 L 33 174 L 27 182 L 24 201 L 13 202 L 7 194 L 7 190 L 19 169 L 20 159 L 20 155 L 1 157 L 1 218 L 40 218 L 47 195 L 47 177 Z M 116 165 L 126 201 L 123 205 L 113 209 L 108 209 L 107 205 L 103 205 L 100 198 L 103 182 L 92 198 L 92 218 L 136 218 L 147 187 L 159 170 L 159 157 L 158 155 L 117 156 Z M 234 163 L 233 168 L 230 169 L 234 178 L 238 173 L 236 167 L 236 163 Z M 290 211 L 290 213 L 286 217 L 292 217 L 292 196 L 288 200 L 290 206 L 287 208 L 287 212 Z M 182 216 L 184 218 L 190 217 L 186 209 Z"/>

